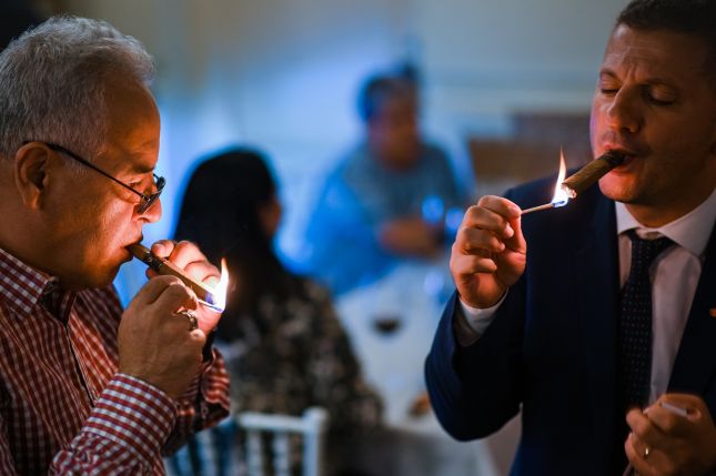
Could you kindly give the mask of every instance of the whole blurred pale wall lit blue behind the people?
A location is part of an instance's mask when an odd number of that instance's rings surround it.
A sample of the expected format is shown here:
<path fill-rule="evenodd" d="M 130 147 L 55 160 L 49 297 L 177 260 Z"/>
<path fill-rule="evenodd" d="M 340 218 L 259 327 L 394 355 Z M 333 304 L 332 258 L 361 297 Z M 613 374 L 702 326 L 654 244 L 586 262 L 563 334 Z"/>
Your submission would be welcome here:
<path fill-rule="evenodd" d="M 465 178 L 470 134 L 507 135 L 515 110 L 586 110 L 614 18 L 626 0 L 65 0 L 145 43 L 159 62 L 162 222 L 200 154 L 254 144 L 273 160 L 295 247 L 311 198 L 356 140 L 360 80 L 413 59 L 425 129 Z M 470 183 L 465 179 L 465 183 Z"/>

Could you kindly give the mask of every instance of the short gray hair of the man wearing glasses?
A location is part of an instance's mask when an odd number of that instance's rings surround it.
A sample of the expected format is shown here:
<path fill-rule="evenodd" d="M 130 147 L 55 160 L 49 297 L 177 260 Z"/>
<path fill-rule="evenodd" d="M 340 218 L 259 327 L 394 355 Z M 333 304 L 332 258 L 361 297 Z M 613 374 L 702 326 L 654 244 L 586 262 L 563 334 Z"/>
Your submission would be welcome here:
<path fill-rule="evenodd" d="M 144 47 L 104 21 L 54 17 L 0 53 L 0 154 L 23 141 L 102 153 L 109 128 L 108 80 L 149 87 L 154 62 Z"/>

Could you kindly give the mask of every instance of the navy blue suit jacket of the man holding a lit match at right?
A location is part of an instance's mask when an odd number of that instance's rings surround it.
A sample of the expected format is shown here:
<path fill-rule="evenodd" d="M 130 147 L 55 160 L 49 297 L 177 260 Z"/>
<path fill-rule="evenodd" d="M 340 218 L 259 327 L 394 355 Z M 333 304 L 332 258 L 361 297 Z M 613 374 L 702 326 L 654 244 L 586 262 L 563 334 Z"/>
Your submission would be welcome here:
<path fill-rule="evenodd" d="M 549 201 L 554 179 L 507 196 Z M 490 435 L 522 407 L 513 475 L 608 475 L 624 460 L 618 403 L 618 254 L 614 202 L 597 186 L 564 209 L 525 215 L 527 266 L 484 335 L 456 344 L 448 303 L 425 364 L 431 402 L 457 439 Z M 674 272 L 678 272 L 675 270 Z M 669 392 L 700 395 L 716 417 L 716 234 Z"/>

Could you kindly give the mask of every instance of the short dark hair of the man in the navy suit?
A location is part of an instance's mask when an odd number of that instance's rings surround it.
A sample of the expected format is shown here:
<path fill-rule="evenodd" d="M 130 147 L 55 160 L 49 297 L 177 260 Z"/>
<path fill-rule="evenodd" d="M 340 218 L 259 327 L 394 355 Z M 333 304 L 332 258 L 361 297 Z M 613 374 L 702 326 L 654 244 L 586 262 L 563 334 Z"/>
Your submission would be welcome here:
<path fill-rule="evenodd" d="M 633 0 L 616 26 L 686 33 L 710 48 L 707 70 L 716 78 L 716 0 Z"/>

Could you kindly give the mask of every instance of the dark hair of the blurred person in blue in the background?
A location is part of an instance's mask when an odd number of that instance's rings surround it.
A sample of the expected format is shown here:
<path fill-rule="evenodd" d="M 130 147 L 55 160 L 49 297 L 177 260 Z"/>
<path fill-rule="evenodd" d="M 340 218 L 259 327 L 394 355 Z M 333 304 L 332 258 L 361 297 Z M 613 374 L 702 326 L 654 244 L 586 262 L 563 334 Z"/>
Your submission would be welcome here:
<path fill-rule="evenodd" d="M 363 122 L 369 122 L 392 99 L 407 98 L 417 101 L 417 83 L 402 75 L 373 75 L 361 88 L 357 111 Z"/>

